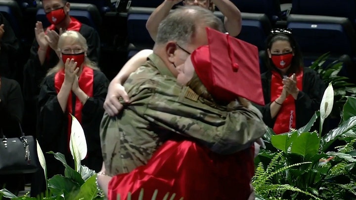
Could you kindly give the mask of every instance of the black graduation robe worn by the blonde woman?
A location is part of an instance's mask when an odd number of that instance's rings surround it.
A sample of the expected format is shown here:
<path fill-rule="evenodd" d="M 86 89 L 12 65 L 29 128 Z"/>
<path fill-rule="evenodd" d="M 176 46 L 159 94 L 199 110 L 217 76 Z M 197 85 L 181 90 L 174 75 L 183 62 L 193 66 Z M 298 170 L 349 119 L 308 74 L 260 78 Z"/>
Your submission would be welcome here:
<path fill-rule="evenodd" d="M 67 162 L 74 167 L 68 146 L 68 114 L 63 113 L 55 90 L 55 74 L 45 77 L 38 101 L 37 137 L 44 152 L 60 152 Z M 99 171 L 102 166 L 99 126 L 104 114 L 103 103 L 107 94 L 109 80 L 105 75 L 94 70 L 93 97 L 90 97 L 82 110 L 82 127 L 87 140 L 88 155 L 82 165 Z M 74 96 L 74 93 L 72 93 Z M 45 155 L 48 177 L 64 173 L 63 165 L 53 155 Z"/>

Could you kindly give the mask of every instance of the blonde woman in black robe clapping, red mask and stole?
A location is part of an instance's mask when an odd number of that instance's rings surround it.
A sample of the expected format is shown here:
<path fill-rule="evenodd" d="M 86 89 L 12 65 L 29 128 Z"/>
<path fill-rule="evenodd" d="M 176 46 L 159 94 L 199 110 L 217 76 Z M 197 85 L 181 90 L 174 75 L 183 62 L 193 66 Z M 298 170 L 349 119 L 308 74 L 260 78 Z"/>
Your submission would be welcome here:
<path fill-rule="evenodd" d="M 75 116 L 84 129 L 88 145 L 88 155 L 82 164 L 99 171 L 102 163 L 99 125 L 109 80 L 89 60 L 88 49 L 86 39 L 79 32 L 67 31 L 59 37 L 61 60 L 49 70 L 41 86 L 37 133 L 44 152 L 60 152 L 73 165 L 68 142 L 71 115 Z M 45 159 L 48 177 L 64 173 L 63 165 L 53 155 L 45 154 Z"/>

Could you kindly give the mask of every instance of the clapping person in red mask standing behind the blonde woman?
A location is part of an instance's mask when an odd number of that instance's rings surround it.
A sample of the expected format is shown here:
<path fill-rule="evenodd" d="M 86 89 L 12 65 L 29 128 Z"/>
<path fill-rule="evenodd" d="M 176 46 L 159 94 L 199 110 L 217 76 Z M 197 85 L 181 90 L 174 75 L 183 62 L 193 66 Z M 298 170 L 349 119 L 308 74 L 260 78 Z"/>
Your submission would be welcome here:
<path fill-rule="evenodd" d="M 25 100 L 24 130 L 36 136 L 36 102 L 40 93 L 41 82 L 46 72 L 59 61 L 57 50 L 60 30 L 73 30 L 81 33 L 88 42 L 88 58 L 99 62 L 99 34 L 90 26 L 79 22 L 69 15 L 70 4 L 66 0 L 45 0 L 42 2 L 51 25 L 45 30 L 42 22 L 36 23 L 35 35 L 30 58 L 24 66 L 23 94 Z M 53 21 L 53 17 L 57 20 Z M 45 33 L 46 36 L 45 37 Z"/>

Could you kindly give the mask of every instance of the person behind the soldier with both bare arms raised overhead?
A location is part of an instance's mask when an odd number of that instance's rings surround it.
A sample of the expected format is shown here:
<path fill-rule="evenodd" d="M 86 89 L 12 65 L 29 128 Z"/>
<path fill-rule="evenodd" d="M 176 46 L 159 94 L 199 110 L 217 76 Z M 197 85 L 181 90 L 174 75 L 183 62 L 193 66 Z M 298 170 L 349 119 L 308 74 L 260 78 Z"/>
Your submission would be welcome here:
<path fill-rule="evenodd" d="M 184 5 L 197 5 L 214 12 L 215 6 L 223 13 L 225 30 L 233 37 L 241 31 L 241 12 L 230 0 L 164 0 L 147 20 L 146 28 L 153 40 L 156 40 L 160 22 L 169 14 L 171 8 L 183 1 Z"/>

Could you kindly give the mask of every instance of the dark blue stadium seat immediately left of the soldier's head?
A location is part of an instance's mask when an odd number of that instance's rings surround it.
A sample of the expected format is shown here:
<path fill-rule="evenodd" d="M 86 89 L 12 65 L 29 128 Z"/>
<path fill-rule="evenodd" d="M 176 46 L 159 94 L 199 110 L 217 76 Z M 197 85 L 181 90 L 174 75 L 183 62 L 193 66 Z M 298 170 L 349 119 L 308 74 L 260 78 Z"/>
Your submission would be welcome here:
<path fill-rule="evenodd" d="M 146 22 L 155 8 L 148 7 L 130 7 L 128 11 L 128 40 L 130 59 L 142 49 L 152 49 L 154 41 L 151 39 L 147 29 Z"/>

